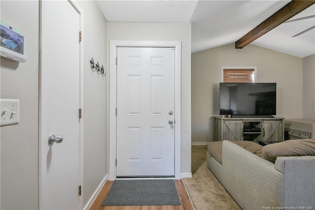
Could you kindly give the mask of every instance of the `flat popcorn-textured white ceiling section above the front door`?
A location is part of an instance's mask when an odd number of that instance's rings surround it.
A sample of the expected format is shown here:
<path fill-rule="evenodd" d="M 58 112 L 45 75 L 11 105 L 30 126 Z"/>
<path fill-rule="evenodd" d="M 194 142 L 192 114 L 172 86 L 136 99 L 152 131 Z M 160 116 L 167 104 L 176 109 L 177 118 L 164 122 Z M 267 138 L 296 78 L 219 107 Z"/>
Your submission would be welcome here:
<path fill-rule="evenodd" d="M 196 0 L 99 0 L 107 21 L 189 23 Z"/>

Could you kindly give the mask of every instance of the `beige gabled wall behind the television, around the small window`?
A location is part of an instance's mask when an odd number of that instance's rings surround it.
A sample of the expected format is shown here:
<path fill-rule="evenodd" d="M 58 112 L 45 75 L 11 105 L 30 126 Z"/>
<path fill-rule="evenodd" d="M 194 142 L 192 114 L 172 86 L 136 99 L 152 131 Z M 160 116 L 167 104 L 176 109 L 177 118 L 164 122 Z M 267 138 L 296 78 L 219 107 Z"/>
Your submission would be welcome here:
<path fill-rule="evenodd" d="M 219 115 L 221 67 L 257 67 L 257 82 L 277 83 L 277 116 L 302 118 L 302 58 L 234 43 L 191 54 L 192 142 L 213 141 L 212 116 Z"/>

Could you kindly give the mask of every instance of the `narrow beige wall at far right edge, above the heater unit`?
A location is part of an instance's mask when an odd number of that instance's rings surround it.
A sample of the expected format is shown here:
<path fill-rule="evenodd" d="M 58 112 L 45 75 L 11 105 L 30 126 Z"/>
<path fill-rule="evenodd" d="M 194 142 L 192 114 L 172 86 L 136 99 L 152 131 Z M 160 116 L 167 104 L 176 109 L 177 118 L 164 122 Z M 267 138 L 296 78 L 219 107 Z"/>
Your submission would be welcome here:
<path fill-rule="evenodd" d="M 303 118 L 315 120 L 315 54 L 303 58 Z"/>

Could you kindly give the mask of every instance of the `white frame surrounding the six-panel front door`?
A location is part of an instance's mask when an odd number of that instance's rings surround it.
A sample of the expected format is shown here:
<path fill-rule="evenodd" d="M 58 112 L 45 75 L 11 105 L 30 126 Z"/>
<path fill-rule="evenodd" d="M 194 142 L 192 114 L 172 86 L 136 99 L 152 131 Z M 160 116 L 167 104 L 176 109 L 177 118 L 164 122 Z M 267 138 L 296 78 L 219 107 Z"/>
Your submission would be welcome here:
<path fill-rule="evenodd" d="M 109 43 L 109 146 L 108 177 L 116 179 L 116 107 L 117 107 L 117 47 L 175 47 L 175 179 L 181 179 L 181 54 L 180 41 L 124 41 L 110 40 Z"/>

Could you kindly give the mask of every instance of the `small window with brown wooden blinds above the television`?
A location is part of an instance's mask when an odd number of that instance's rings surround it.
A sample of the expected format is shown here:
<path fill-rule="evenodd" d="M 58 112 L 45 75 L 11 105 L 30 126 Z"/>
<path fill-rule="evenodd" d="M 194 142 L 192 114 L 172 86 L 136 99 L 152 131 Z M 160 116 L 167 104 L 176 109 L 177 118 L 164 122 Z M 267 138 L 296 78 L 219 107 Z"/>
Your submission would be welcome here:
<path fill-rule="evenodd" d="M 223 69 L 223 82 L 254 82 L 254 69 Z"/>

